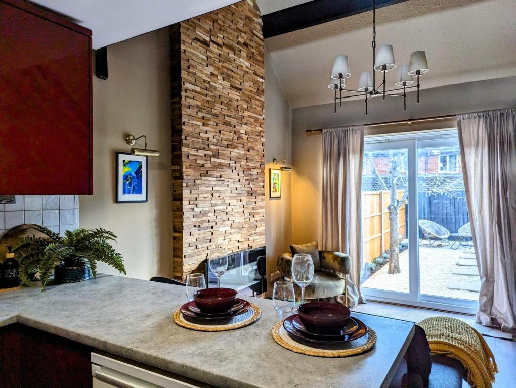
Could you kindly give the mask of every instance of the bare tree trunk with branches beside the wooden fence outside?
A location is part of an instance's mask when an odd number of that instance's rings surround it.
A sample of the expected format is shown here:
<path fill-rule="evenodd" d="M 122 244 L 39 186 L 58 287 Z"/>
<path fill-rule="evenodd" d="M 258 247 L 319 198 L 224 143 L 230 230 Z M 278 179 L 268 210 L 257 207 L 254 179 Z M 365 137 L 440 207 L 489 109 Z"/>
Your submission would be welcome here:
<path fill-rule="evenodd" d="M 369 151 L 366 153 L 367 160 L 371 166 L 372 172 L 377 178 L 380 184 L 380 190 L 390 191 L 390 204 L 387 207 L 389 211 L 389 274 L 399 274 L 399 223 L 398 223 L 398 214 L 399 209 L 405 204 L 408 196 L 408 188 L 405 189 L 401 198 L 398 199 L 398 185 L 399 178 L 401 175 L 401 167 L 405 165 L 407 162 L 405 153 L 400 153 L 399 151 L 389 150 L 389 180 L 390 180 L 390 188 L 387 187 L 385 181 L 378 173 L 376 168 L 373 154 Z"/>

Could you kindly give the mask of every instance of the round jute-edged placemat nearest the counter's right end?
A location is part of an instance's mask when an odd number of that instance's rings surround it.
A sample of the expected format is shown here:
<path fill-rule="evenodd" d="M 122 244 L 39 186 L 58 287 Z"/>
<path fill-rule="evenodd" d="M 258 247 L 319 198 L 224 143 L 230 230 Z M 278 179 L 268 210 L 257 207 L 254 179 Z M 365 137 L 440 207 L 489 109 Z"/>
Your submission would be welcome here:
<path fill-rule="evenodd" d="M 307 356 L 316 357 L 349 357 L 360 355 L 371 349 L 376 344 L 376 333 L 372 328 L 367 329 L 367 334 L 357 340 L 349 341 L 342 348 L 314 348 L 294 341 L 283 327 L 283 321 L 278 322 L 272 328 L 272 338 L 285 349 L 292 350 Z"/>

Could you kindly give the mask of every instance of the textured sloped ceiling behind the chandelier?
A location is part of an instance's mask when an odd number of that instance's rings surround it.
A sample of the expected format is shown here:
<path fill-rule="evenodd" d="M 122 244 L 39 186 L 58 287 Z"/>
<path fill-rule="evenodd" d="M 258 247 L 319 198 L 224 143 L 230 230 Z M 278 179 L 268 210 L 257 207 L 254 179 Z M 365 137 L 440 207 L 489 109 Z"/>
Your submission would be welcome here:
<path fill-rule="evenodd" d="M 409 0 L 377 10 L 377 46 L 392 44 L 396 64 L 425 50 L 430 72 L 422 89 L 513 76 L 514 14 L 514 0 Z M 365 12 L 266 40 L 293 108 L 333 102 L 327 85 L 336 55 L 348 55 L 346 88 L 358 88 L 360 73 L 372 70 L 372 17 Z M 395 81 L 396 71 L 389 72 L 388 86 Z"/>

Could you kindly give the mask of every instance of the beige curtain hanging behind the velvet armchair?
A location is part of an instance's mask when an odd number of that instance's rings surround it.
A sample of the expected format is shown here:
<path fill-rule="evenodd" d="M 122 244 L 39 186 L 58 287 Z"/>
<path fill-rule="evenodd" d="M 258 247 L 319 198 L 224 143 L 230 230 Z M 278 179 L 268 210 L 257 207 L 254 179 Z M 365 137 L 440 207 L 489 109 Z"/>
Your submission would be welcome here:
<path fill-rule="evenodd" d="M 365 301 L 360 293 L 364 126 L 323 130 L 322 153 L 322 247 L 350 256 L 348 306 L 354 307 Z"/>

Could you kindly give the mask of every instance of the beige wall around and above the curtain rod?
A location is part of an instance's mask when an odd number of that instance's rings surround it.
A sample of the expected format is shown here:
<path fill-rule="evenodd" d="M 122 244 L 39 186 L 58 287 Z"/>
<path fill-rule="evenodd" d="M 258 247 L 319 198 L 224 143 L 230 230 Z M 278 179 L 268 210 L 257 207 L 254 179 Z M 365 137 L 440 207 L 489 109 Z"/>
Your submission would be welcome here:
<path fill-rule="evenodd" d="M 333 113 L 333 104 L 294 109 L 292 112 L 292 240 L 304 243 L 321 239 L 322 136 L 307 129 L 328 128 L 418 119 L 441 115 L 505 108 L 516 104 L 516 77 L 468 82 L 407 93 L 407 111 L 397 98 L 376 97 L 364 114 L 363 100 L 344 100 Z M 445 125 L 445 124 L 443 124 Z M 398 132 L 397 128 L 392 129 Z M 324 248 L 324 247 L 323 247 Z"/>

